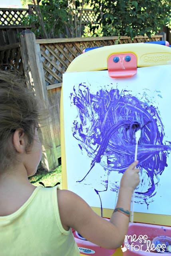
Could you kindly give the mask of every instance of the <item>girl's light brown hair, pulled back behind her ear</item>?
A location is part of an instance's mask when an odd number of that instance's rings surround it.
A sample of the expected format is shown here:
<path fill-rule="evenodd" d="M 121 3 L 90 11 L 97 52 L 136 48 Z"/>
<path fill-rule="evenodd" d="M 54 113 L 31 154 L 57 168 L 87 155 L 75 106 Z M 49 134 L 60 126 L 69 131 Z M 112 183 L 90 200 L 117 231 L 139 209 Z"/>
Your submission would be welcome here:
<path fill-rule="evenodd" d="M 38 126 L 39 104 L 18 73 L 0 70 L 0 170 L 14 166 L 17 152 L 13 133 L 22 128 L 27 136 L 26 151 L 32 146 Z"/>

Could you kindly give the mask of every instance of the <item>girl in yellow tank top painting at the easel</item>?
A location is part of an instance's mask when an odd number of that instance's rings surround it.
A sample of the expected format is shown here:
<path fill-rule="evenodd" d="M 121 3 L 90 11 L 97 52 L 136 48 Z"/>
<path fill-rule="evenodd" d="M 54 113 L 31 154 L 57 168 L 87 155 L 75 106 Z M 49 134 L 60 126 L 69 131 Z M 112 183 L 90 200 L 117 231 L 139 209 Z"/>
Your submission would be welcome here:
<path fill-rule="evenodd" d="M 139 184 L 138 161 L 121 178 L 110 221 L 71 191 L 33 186 L 28 177 L 35 174 L 42 155 L 38 106 L 14 74 L 0 71 L 0 255 L 78 256 L 71 228 L 101 247 L 118 248 Z"/>

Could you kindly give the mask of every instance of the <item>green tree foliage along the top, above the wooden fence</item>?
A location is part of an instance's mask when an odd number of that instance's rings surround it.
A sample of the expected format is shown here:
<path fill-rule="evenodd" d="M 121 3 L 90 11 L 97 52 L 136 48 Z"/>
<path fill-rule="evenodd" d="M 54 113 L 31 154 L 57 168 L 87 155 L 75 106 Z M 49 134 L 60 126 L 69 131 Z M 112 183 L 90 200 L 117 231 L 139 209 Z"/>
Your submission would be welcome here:
<path fill-rule="evenodd" d="M 49 38 L 80 36 L 82 14 L 78 8 L 83 8 L 84 4 L 92 6 L 97 17 L 95 24 L 87 25 L 84 36 L 151 37 L 162 31 L 163 26 L 171 26 L 171 0 L 42 0 L 41 3 L 40 11 Z M 42 36 L 38 16 L 29 15 L 24 19 L 25 24 L 34 24 L 37 37 Z"/>

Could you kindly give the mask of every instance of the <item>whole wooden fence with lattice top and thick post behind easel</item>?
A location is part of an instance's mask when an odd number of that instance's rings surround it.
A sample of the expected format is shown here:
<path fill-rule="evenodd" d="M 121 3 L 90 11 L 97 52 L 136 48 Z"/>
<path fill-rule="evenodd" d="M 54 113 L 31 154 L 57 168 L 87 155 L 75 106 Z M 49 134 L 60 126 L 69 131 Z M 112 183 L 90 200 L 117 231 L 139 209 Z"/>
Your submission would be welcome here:
<path fill-rule="evenodd" d="M 160 41 L 162 35 L 136 36 L 134 40 L 127 36 L 91 37 L 91 38 L 57 38 L 36 40 L 34 33 L 24 30 L 21 43 L 0 46 L 0 68 L 16 69 L 25 74 L 29 86 L 35 86 L 38 96 L 50 106 L 50 120 L 42 130 L 42 139 L 50 144 L 44 148 L 42 165 L 46 170 L 58 166 L 60 151 L 60 95 L 62 74 L 69 64 L 84 48 L 107 46 L 113 44 Z M 30 74 L 32 77 L 30 77 Z M 30 82 L 32 81 L 32 82 Z M 48 142 L 48 143 L 47 143 Z"/>

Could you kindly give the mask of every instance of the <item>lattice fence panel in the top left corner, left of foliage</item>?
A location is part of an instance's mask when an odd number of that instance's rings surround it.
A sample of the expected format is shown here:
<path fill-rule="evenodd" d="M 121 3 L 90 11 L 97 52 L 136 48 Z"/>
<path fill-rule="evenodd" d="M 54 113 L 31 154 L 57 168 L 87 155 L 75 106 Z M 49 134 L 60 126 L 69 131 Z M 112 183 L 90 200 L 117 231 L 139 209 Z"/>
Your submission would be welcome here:
<path fill-rule="evenodd" d="M 28 9 L 0 9 L 0 25 L 22 25 L 22 19 L 28 15 Z"/>

